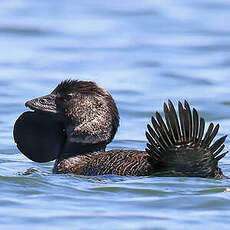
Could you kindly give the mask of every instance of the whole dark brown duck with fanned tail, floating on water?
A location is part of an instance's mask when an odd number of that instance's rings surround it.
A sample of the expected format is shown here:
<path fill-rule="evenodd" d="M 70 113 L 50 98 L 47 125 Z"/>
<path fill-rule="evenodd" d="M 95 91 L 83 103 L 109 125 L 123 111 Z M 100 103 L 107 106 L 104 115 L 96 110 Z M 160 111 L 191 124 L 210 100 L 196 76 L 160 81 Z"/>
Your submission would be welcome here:
<path fill-rule="evenodd" d="M 92 81 L 64 80 L 48 95 L 25 103 L 30 109 L 14 124 L 18 149 L 34 162 L 55 160 L 53 173 L 96 176 L 186 176 L 223 178 L 218 162 L 227 135 L 189 103 L 171 100 L 155 112 L 146 129 L 145 150 L 106 150 L 119 126 L 111 94 Z"/>

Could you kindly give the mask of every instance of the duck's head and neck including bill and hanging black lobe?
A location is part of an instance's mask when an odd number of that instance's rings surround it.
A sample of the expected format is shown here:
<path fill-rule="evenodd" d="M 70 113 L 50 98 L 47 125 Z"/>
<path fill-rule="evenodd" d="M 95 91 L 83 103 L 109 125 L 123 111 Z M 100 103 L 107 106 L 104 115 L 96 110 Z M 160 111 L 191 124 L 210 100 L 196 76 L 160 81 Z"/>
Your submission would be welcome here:
<path fill-rule="evenodd" d="M 19 117 L 14 138 L 21 152 L 33 161 L 105 149 L 119 125 L 112 96 L 91 81 L 65 80 L 50 94 L 25 105 L 35 112 Z"/>

